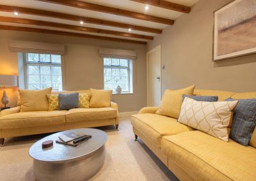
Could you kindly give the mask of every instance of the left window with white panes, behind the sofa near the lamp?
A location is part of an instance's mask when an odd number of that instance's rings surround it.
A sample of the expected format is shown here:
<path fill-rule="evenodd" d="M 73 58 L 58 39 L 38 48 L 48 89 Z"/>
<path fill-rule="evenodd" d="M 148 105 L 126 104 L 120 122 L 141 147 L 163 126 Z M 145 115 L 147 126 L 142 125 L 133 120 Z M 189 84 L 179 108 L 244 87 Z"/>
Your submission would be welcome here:
<path fill-rule="evenodd" d="M 61 55 L 25 54 L 27 89 L 62 90 Z"/>

